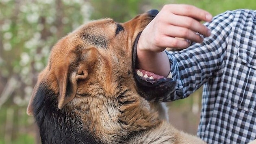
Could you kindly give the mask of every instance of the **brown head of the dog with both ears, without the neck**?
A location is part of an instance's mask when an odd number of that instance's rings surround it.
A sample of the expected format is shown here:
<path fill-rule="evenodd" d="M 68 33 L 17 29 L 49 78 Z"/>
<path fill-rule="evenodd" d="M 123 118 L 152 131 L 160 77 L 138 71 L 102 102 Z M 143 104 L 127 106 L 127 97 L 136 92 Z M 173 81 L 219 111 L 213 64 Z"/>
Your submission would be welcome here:
<path fill-rule="evenodd" d="M 42 85 L 58 95 L 59 109 L 75 97 L 80 99 L 100 93 L 113 97 L 120 94 L 118 90 L 122 85 L 137 89 L 145 98 L 158 93 L 159 83 L 144 84 L 145 80 L 135 73 L 136 49 L 133 51 L 138 35 L 157 13 L 149 11 L 126 23 L 112 19 L 92 21 L 59 40 L 52 48 L 48 65 L 39 74 L 27 113 L 34 114 L 33 100 Z"/>

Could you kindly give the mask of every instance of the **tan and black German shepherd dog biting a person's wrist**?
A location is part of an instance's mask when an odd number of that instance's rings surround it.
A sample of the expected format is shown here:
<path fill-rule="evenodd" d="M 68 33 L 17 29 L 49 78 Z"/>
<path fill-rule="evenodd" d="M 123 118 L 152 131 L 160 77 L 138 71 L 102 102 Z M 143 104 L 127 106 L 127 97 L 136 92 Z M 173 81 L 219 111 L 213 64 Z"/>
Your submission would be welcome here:
<path fill-rule="evenodd" d="M 137 39 L 157 13 L 91 21 L 54 45 L 27 108 L 43 144 L 204 143 L 171 126 L 163 104 L 148 101 L 175 83 L 135 72 Z"/>

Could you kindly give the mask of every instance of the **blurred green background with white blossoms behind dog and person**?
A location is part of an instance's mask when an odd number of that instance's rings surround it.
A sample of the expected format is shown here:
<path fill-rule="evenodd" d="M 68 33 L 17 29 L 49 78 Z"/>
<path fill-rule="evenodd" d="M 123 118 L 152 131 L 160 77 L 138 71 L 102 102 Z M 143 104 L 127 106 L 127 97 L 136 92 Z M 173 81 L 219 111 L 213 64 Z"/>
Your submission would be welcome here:
<path fill-rule="evenodd" d="M 57 40 L 92 19 L 124 22 L 171 3 L 192 4 L 213 15 L 256 9 L 255 0 L 0 0 L 0 144 L 40 143 L 26 106 Z M 199 89 L 184 100 L 168 103 L 176 128 L 196 134 L 201 94 Z"/>

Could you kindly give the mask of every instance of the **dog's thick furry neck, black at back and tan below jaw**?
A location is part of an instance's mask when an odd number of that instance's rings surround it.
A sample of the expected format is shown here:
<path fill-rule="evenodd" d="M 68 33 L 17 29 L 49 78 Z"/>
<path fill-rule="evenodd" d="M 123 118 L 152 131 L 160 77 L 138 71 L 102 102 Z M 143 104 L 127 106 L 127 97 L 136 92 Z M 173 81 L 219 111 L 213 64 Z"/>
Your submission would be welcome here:
<path fill-rule="evenodd" d="M 150 113 L 148 102 L 134 89 L 121 86 L 118 91 L 112 97 L 104 95 L 103 90 L 97 95 L 80 95 L 59 109 L 56 104 L 59 93 L 41 84 L 33 105 L 42 142 L 99 143 L 95 141 L 97 139 L 103 143 L 124 143 L 158 125 L 157 116 Z M 140 119 L 135 119 L 136 115 L 140 115 Z"/>

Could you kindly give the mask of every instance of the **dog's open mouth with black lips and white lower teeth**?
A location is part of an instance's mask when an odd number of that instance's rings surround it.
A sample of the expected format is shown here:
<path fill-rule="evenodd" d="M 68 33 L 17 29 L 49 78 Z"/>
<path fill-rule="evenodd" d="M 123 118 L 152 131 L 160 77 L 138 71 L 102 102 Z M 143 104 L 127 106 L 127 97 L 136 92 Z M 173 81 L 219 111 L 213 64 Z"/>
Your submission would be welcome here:
<path fill-rule="evenodd" d="M 171 99 L 170 96 L 175 91 L 176 81 L 172 78 L 165 78 L 164 76 L 146 70 L 136 69 L 137 42 L 140 35 L 141 32 L 134 42 L 132 55 L 132 69 L 137 85 L 137 92 L 148 101 L 167 101 L 167 99 Z"/>

